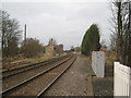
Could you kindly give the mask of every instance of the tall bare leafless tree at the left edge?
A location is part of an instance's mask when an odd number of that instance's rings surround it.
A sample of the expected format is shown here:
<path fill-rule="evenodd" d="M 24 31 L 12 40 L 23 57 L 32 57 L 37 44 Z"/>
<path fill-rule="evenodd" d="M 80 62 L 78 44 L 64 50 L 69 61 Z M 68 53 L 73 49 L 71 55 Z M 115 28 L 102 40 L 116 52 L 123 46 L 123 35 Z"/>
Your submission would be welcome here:
<path fill-rule="evenodd" d="M 12 57 L 17 53 L 17 45 L 21 38 L 20 25 L 15 19 L 10 19 L 10 14 L 2 11 L 2 54 Z"/>

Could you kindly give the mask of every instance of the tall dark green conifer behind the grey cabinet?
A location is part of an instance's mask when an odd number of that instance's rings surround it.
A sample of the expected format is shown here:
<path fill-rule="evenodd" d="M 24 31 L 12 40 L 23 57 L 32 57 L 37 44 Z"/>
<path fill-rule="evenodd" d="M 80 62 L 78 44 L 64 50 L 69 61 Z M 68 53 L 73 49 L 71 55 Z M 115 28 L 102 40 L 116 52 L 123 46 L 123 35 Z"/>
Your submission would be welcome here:
<path fill-rule="evenodd" d="M 93 24 L 85 33 L 82 41 L 82 53 L 91 54 L 92 51 L 100 49 L 99 29 L 96 24 Z"/>

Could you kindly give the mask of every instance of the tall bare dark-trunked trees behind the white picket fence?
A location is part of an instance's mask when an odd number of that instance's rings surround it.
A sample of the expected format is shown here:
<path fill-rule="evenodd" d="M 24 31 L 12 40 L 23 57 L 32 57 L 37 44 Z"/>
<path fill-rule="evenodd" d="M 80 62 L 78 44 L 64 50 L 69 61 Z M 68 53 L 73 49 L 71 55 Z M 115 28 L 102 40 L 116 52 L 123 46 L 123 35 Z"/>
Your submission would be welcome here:
<path fill-rule="evenodd" d="M 130 65 L 131 60 L 129 58 L 131 58 L 131 8 L 129 0 L 115 0 L 112 2 L 111 11 L 114 22 L 114 35 L 116 36 L 117 58 L 121 63 Z"/>

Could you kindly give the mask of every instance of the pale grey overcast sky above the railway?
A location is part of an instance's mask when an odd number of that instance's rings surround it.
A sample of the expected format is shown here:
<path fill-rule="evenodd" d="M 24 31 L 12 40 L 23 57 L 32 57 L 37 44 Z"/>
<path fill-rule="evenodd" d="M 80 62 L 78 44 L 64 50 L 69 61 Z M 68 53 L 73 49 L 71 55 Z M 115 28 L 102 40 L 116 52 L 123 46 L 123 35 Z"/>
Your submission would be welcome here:
<path fill-rule="evenodd" d="M 3 2 L 2 10 L 16 19 L 22 29 L 27 25 L 27 37 L 37 38 L 44 45 L 55 38 L 64 49 L 81 46 L 93 23 L 98 25 L 102 39 L 109 44 L 108 2 Z"/>

